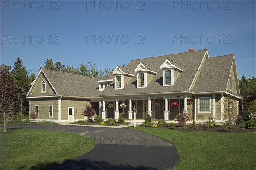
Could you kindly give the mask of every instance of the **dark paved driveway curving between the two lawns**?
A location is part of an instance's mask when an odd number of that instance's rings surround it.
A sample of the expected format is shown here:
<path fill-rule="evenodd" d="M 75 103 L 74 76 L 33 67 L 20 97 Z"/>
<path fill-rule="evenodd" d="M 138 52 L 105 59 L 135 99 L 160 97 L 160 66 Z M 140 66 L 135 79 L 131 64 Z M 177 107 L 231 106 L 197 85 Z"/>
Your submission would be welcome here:
<path fill-rule="evenodd" d="M 50 170 L 167 170 L 172 169 L 179 159 L 172 144 L 136 130 L 54 124 L 8 125 L 10 127 L 76 133 L 96 142 L 90 152 Z"/>

